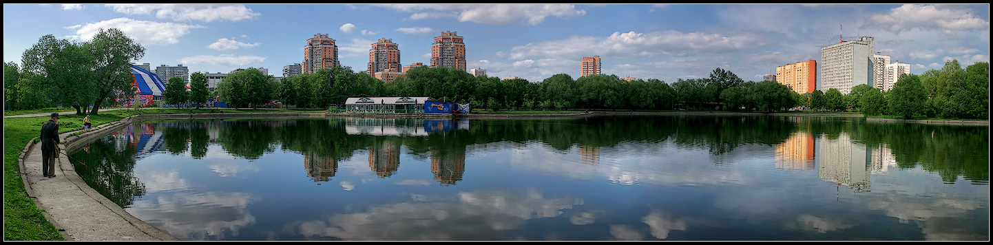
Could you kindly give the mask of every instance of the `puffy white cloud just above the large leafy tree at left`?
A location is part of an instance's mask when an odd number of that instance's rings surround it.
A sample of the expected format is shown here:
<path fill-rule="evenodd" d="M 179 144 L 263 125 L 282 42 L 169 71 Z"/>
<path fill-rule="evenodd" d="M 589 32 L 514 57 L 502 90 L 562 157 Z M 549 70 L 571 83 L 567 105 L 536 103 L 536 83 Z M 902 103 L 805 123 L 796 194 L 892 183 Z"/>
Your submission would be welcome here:
<path fill-rule="evenodd" d="M 190 34 L 191 29 L 204 28 L 197 25 L 138 21 L 128 18 L 116 18 L 97 23 L 87 23 L 67 27 L 75 29 L 75 35 L 70 39 L 88 42 L 96 36 L 99 29 L 117 29 L 128 38 L 142 45 L 173 45 L 179 43 L 179 38 Z"/>

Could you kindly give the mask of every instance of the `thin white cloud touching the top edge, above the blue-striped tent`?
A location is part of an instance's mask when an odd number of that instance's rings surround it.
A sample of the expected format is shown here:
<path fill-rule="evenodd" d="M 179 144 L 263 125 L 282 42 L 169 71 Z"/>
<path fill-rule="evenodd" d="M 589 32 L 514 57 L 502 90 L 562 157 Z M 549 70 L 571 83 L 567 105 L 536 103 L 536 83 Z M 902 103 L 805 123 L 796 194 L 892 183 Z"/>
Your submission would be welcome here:
<path fill-rule="evenodd" d="M 232 4 L 107 4 L 105 6 L 128 15 L 154 13 L 157 18 L 174 21 L 241 21 L 260 15 L 243 5 Z"/>

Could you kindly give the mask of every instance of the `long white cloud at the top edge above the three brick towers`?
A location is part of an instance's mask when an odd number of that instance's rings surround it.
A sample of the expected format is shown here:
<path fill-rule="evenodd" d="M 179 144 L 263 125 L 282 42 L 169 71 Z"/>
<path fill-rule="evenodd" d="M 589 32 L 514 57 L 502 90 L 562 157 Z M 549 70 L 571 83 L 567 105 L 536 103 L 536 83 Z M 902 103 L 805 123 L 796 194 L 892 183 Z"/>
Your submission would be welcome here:
<path fill-rule="evenodd" d="M 403 12 L 413 12 L 411 20 L 427 18 L 455 18 L 459 22 L 479 24 L 508 24 L 521 21 L 538 25 L 546 17 L 569 19 L 586 15 L 586 10 L 576 10 L 571 4 L 398 4 L 381 5 Z"/>

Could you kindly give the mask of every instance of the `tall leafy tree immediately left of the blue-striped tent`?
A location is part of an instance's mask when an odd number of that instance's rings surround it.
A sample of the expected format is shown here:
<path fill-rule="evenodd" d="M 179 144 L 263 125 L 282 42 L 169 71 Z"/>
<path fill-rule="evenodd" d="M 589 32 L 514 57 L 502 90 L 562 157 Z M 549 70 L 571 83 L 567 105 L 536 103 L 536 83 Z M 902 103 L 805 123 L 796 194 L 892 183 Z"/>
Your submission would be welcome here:
<path fill-rule="evenodd" d="M 113 28 L 98 30 L 87 44 L 93 54 L 93 70 L 96 71 L 96 99 L 90 114 L 96 115 L 103 101 L 130 93 L 131 82 L 134 81 L 131 62 L 144 57 L 145 48 Z"/>

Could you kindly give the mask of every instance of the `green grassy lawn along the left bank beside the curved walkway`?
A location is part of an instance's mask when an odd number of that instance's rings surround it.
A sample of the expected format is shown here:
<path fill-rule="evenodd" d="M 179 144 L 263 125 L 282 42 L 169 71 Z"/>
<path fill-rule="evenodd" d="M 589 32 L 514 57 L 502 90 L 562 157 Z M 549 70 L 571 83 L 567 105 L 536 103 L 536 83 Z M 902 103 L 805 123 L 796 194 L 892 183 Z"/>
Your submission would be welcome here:
<path fill-rule="evenodd" d="M 34 113 L 49 113 L 74 111 L 72 108 L 45 108 L 37 110 L 4 110 L 4 115 L 23 115 Z M 193 113 L 209 113 L 210 108 L 192 109 Z M 224 113 L 266 113 L 266 112 L 295 112 L 295 113 L 325 113 L 324 109 L 233 109 L 223 108 Z M 89 117 L 90 123 L 97 126 L 104 123 L 121 120 L 134 114 L 174 114 L 191 113 L 191 109 L 155 108 L 142 110 L 108 110 L 100 111 L 98 115 Z M 84 116 L 75 113 L 60 115 L 59 133 L 80 130 Z M 11 117 L 3 119 L 4 137 L 4 198 L 3 224 L 4 241 L 65 241 L 59 230 L 45 219 L 43 212 L 38 209 L 35 201 L 25 192 L 24 181 L 19 174 L 21 166 L 18 158 L 21 150 L 35 137 L 41 134 L 42 124 L 48 116 Z"/>

